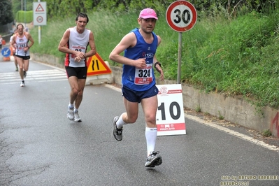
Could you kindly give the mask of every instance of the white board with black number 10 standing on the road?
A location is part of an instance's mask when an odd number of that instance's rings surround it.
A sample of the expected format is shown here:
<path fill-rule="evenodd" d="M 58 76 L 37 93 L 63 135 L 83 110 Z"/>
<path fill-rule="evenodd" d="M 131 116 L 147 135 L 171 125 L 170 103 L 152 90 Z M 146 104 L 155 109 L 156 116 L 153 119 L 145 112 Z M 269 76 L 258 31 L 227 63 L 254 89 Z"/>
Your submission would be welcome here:
<path fill-rule="evenodd" d="M 186 134 L 181 85 L 156 86 L 159 90 L 156 114 L 157 136 Z"/>

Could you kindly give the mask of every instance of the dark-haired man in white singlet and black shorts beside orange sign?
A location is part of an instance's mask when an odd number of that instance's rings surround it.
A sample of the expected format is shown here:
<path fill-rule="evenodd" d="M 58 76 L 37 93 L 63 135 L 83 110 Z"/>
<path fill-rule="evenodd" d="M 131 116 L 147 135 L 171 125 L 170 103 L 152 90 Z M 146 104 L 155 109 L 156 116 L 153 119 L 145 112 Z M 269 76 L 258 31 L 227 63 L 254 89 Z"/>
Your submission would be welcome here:
<path fill-rule="evenodd" d="M 64 64 L 71 86 L 67 117 L 74 122 L 81 122 L 78 108 L 83 100 L 83 89 L 87 78 L 86 59 L 96 54 L 93 33 L 85 29 L 88 21 L 85 13 L 78 13 L 76 27 L 66 29 L 58 46 L 60 52 L 66 53 Z M 88 45 L 91 50 L 87 52 Z"/>

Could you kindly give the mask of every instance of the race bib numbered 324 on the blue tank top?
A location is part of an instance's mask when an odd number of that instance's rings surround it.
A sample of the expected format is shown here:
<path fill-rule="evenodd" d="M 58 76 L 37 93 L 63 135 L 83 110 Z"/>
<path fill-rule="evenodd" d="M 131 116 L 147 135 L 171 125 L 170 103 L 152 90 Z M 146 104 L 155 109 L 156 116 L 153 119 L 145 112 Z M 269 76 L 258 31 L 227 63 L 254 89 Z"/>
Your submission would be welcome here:
<path fill-rule="evenodd" d="M 145 69 L 136 68 L 134 79 L 136 85 L 148 85 L 152 80 L 152 64 L 146 64 Z"/>

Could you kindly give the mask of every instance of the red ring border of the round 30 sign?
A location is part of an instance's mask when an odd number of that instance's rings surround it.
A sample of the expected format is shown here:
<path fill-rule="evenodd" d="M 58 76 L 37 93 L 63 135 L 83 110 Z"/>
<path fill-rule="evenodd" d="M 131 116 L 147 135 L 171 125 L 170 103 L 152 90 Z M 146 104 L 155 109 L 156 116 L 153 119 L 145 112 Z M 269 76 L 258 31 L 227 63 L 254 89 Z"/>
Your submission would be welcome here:
<path fill-rule="evenodd" d="M 176 27 L 176 25 L 173 24 L 173 22 L 171 21 L 171 11 L 173 10 L 173 8 L 175 8 L 178 5 L 185 5 L 192 11 L 193 19 L 192 22 L 187 27 Z M 166 22 L 168 22 L 171 29 L 175 31 L 179 31 L 179 32 L 188 31 L 192 29 L 192 27 L 194 27 L 194 24 L 196 24 L 196 8 L 194 8 L 192 3 L 189 3 L 188 1 L 174 1 L 166 10 Z"/>

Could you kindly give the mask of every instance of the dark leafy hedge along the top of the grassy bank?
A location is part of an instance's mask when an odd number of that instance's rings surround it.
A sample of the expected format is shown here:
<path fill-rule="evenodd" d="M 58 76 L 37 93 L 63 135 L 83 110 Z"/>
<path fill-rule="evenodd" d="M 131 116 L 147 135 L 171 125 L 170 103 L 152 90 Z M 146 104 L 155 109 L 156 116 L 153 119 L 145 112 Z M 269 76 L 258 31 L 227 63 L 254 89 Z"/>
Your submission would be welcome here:
<path fill-rule="evenodd" d="M 143 8 L 154 8 L 157 12 L 165 12 L 173 0 L 45 0 L 48 6 L 48 18 L 67 17 L 79 12 L 90 13 L 99 9 L 113 13 L 136 12 Z M 264 6 L 272 6 L 276 0 L 188 0 L 199 14 L 214 16 L 237 15 L 239 10 L 251 12 L 261 11 Z"/>

